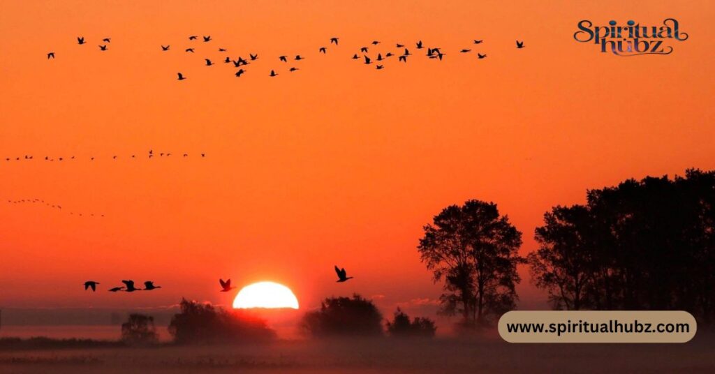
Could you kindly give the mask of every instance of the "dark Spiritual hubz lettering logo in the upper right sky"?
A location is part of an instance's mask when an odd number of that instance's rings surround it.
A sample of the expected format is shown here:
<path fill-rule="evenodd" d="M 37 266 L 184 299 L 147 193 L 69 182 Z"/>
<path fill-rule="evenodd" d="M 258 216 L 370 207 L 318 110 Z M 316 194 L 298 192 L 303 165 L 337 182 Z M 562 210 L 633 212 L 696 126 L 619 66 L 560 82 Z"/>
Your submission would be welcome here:
<path fill-rule="evenodd" d="M 584 19 L 578 22 L 578 31 L 573 39 L 581 43 L 592 41 L 601 46 L 601 52 L 611 52 L 616 56 L 640 56 L 643 54 L 671 54 L 674 41 L 688 40 L 689 35 L 681 32 L 677 19 L 668 18 L 663 26 L 641 26 L 635 21 L 618 26 L 616 21 L 608 21 L 608 26 L 593 26 Z"/>

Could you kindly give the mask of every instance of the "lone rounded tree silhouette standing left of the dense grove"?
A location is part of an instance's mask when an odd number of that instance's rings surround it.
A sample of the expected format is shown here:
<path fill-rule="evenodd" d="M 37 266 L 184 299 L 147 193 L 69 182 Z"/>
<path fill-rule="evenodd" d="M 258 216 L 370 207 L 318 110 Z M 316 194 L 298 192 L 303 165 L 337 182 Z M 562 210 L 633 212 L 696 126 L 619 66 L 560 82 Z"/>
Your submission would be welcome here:
<path fill-rule="evenodd" d="M 444 280 L 442 313 L 461 313 L 465 325 L 484 325 L 516 307 L 521 232 L 493 202 L 446 207 L 424 231 L 418 250 L 434 281 Z"/>

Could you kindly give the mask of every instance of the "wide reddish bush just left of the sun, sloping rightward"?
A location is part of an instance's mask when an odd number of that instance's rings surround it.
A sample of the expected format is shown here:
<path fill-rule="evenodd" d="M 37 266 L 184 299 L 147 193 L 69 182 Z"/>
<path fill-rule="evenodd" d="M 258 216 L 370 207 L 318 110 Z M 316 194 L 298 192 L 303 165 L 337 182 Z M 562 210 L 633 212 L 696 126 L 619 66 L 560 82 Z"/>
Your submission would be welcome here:
<path fill-rule="evenodd" d="M 247 313 L 228 312 L 211 304 L 182 300 L 181 313 L 172 317 L 169 333 L 179 344 L 245 343 L 275 338 L 265 320 Z"/>

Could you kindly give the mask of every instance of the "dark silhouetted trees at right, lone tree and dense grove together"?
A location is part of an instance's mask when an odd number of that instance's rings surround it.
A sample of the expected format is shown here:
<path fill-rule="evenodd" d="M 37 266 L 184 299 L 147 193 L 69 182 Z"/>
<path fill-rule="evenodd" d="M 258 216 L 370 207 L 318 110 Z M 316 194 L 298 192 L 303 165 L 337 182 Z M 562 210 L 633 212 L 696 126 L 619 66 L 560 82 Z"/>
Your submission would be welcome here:
<path fill-rule="evenodd" d="M 442 313 L 493 323 L 516 307 L 516 267 L 527 263 L 555 309 L 686 310 L 715 322 L 715 172 L 628 179 L 586 197 L 546 212 L 526 258 L 493 202 L 446 207 L 418 246 L 444 284 Z"/>

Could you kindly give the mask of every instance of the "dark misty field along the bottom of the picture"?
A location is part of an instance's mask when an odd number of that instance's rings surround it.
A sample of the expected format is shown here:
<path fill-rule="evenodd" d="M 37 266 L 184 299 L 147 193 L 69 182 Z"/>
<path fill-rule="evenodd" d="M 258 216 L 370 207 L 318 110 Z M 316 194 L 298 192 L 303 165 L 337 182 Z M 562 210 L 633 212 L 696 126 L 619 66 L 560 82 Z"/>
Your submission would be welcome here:
<path fill-rule="evenodd" d="M 664 345 L 513 345 L 475 340 L 280 341 L 0 350 L 0 373 L 714 373 L 715 336 Z"/>

